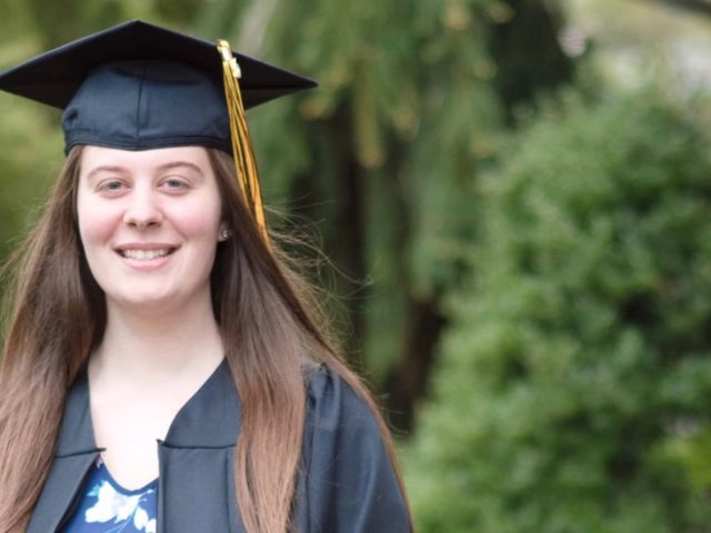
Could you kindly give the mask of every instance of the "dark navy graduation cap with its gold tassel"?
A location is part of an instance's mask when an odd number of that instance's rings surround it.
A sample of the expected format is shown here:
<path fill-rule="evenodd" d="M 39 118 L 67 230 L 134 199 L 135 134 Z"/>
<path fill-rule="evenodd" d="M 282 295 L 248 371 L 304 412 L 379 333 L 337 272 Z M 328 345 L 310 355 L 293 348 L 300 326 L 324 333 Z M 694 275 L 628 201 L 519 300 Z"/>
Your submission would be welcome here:
<path fill-rule="evenodd" d="M 261 194 L 244 110 L 316 87 L 312 80 L 210 42 L 129 21 L 0 74 L 0 89 L 63 109 L 67 152 L 202 145 L 234 157 L 263 237 Z"/>

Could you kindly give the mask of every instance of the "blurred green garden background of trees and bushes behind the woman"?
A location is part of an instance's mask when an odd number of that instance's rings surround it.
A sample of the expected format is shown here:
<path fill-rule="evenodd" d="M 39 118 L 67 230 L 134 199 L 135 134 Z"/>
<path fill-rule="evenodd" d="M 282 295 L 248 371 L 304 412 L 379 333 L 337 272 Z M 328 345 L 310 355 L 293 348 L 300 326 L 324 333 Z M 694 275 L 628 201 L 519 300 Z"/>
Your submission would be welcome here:
<path fill-rule="evenodd" d="M 250 111 L 264 195 L 419 531 L 711 531 L 711 1 L 2 4 L 2 69 L 139 18 L 320 81 Z M 58 121 L 0 94 L 0 257 Z"/>

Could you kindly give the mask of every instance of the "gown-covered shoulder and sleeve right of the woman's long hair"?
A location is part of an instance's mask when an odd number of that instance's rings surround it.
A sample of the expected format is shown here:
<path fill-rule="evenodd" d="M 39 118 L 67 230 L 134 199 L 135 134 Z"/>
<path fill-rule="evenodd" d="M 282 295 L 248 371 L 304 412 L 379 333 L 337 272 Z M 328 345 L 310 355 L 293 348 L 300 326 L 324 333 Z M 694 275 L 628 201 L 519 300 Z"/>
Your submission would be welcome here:
<path fill-rule="evenodd" d="M 300 493 L 318 527 L 304 531 L 410 531 L 387 430 L 371 405 L 332 368 L 310 369 Z"/>

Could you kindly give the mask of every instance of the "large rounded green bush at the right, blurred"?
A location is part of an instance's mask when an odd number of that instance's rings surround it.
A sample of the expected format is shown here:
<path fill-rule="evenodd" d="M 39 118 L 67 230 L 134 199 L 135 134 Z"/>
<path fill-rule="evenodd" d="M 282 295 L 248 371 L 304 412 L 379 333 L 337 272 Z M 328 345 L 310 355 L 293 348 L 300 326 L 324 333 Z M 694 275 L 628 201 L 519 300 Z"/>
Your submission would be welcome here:
<path fill-rule="evenodd" d="M 550 115 L 481 187 L 408 455 L 422 531 L 691 533 L 711 512 L 711 158 L 652 92 Z"/>

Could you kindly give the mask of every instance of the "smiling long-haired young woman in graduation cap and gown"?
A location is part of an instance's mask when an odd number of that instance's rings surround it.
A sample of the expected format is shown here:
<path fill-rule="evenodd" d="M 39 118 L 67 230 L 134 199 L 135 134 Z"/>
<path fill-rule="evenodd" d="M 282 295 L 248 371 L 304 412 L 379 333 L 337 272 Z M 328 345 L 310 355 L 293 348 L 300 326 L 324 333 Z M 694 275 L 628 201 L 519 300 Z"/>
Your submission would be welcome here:
<path fill-rule="evenodd" d="M 241 91 L 224 46 L 134 21 L 0 76 L 68 152 L 12 262 L 0 532 L 411 531 L 261 212 L 242 103 L 311 83 L 238 59 Z"/>

